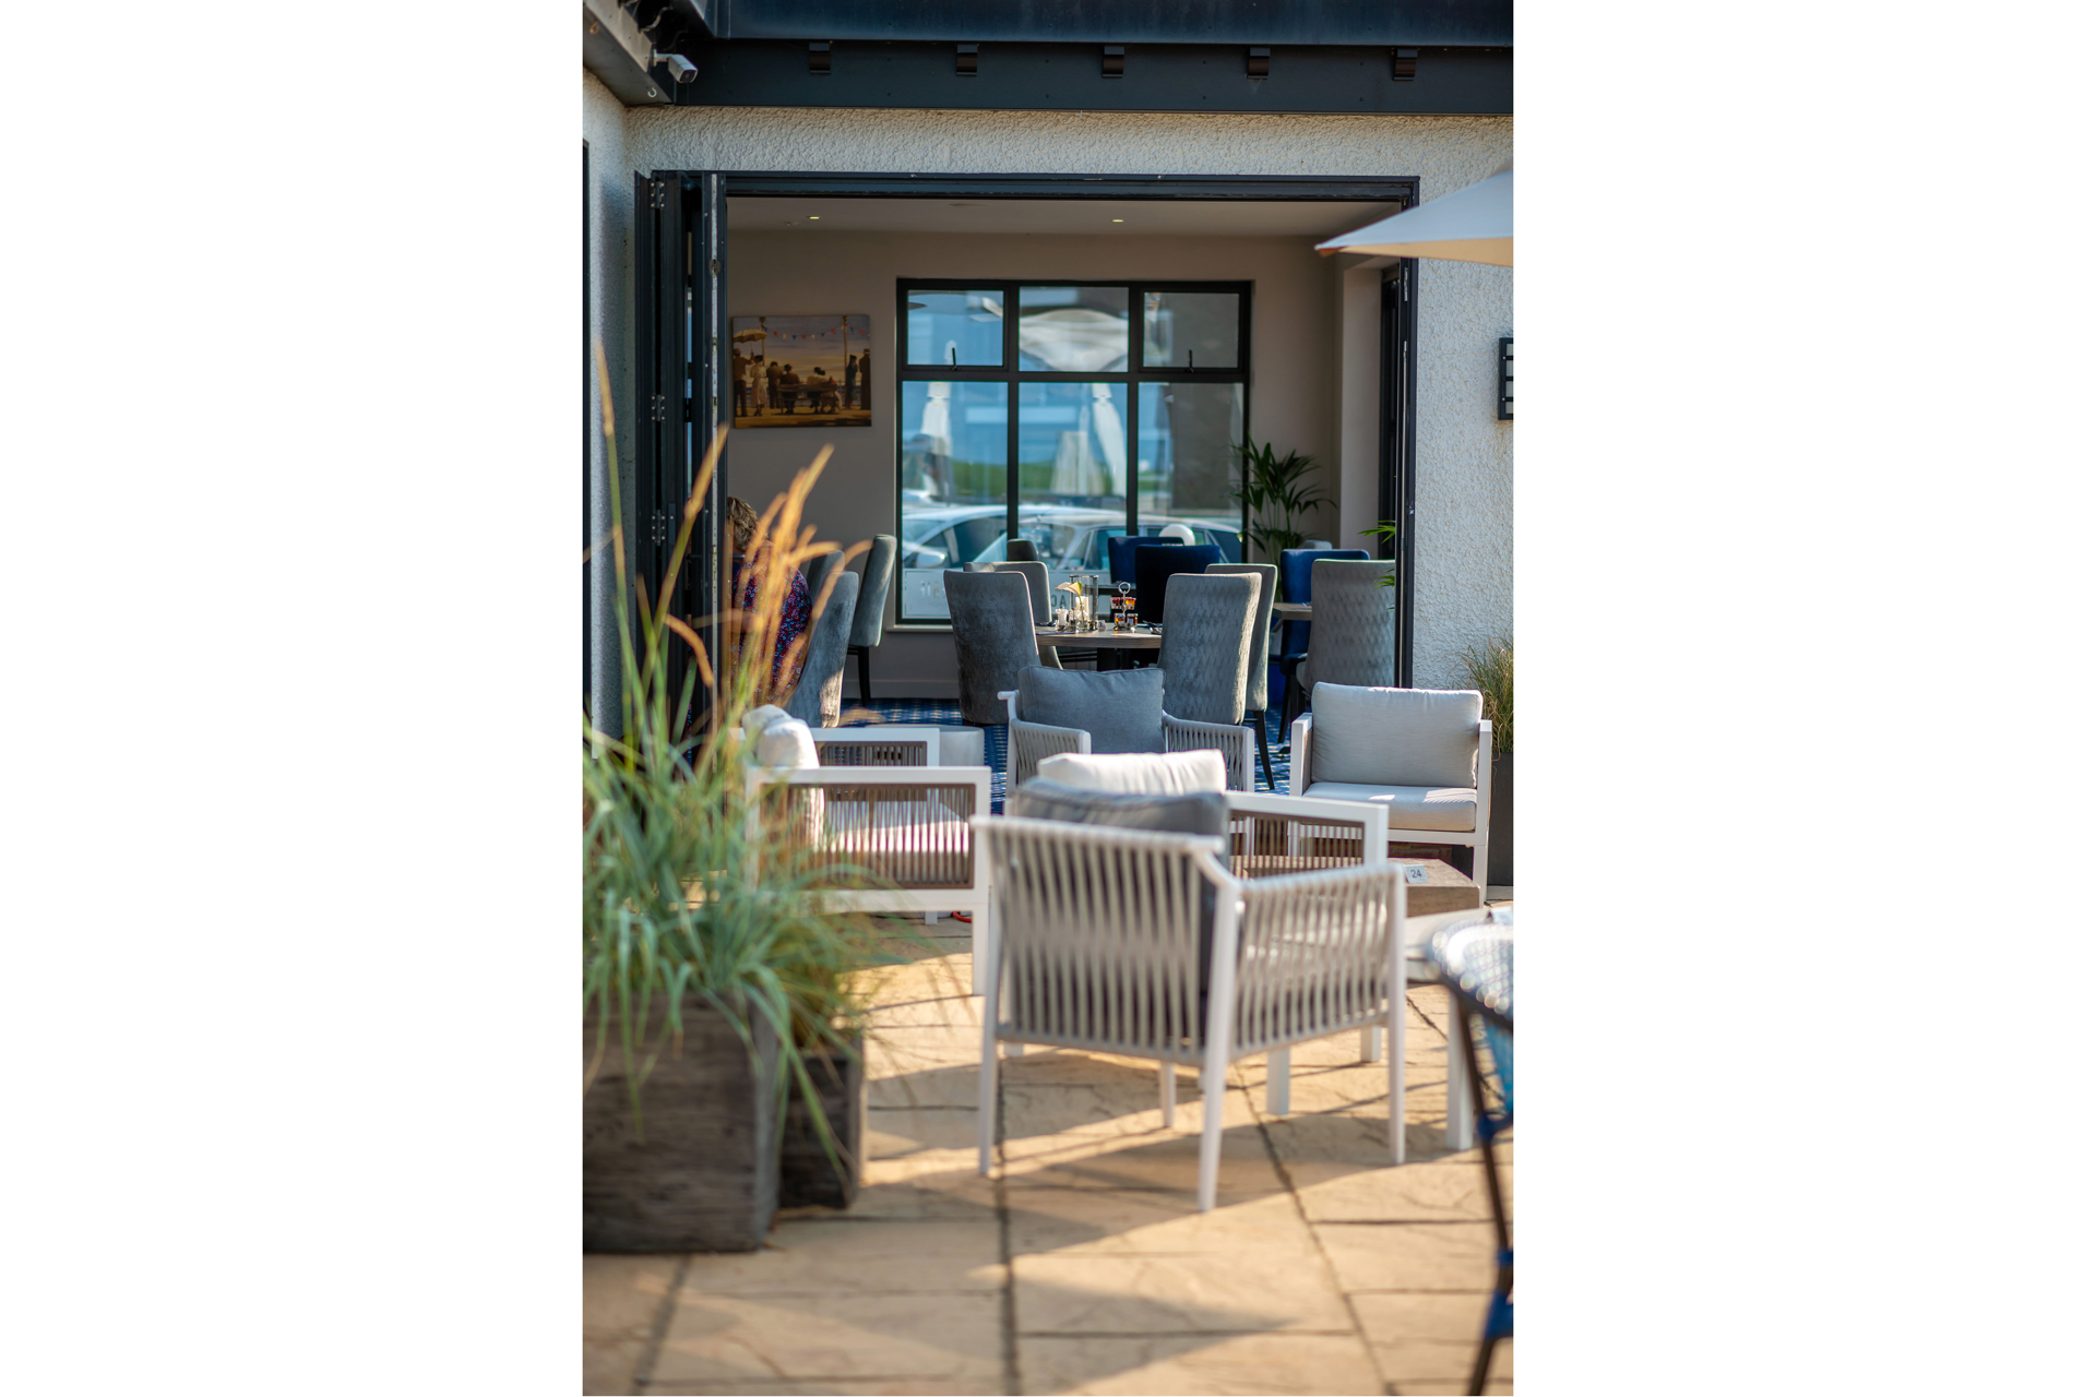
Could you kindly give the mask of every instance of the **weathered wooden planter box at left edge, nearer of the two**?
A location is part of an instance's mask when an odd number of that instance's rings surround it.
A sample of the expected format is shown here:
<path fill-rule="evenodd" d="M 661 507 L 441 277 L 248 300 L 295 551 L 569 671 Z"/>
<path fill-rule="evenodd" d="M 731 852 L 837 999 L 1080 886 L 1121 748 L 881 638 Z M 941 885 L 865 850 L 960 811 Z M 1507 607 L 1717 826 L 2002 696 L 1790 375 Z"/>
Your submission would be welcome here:
<path fill-rule="evenodd" d="M 595 1047 L 595 1022 L 585 1016 L 585 1064 Z M 778 1041 L 769 1033 L 757 1033 L 752 1054 L 719 1010 L 685 1003 L 683 1051 L 664 1047 L 656 1058 L 635 1131 L 614 1024 L 583 1095 L 583 1250 L 757 1250 L 778 1211 Z"/>

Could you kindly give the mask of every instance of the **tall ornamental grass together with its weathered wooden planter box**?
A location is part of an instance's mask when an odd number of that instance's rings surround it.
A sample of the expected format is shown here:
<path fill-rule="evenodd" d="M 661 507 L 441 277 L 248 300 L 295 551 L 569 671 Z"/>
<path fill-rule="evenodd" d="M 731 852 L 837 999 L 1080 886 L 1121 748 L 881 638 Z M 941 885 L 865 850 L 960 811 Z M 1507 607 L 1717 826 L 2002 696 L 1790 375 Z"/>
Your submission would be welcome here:
<path fill-rule="evenodd" d="M 608 394 L 604 427 L 618 519 Z M 715 440 L 667 578 L 683 563 L 719 452 Z M 820 469 L 817 459 L 761 519 L 778 549 L 765 586 L 782 591 L 803 561 L 801 501 Z M 627 605 L 623 530 L 610 547 L 625 683 L 620 733 L 585 725 L 583 1244 L 755 1250 L 780 1204 L 788 1116 L 801 1116 L 834 1175 L 855 1177 L 832 1125 L 857 1114 L 836 1100 L 840 1083 L 857 1081 L 861 1005 L 849 982 L 891 957 L 872 919 L 817 911 L 815 890 L 853 869 L 826 861 L 790 811 L 744 794 L 729 727 L 685 735 L 700 685 L 723 714 L 750 706 L 759 672 L 769 674 L 784 607 L 767 601 L 778 597 L 759 597 L 752 618 L 773 620 L 744 635 L 748 664 L 715 674 L 690 624 L 671 616 L 667 589 L 650 603 L 633 584 L 637 607 Z M 675 695 L 673 643 L 694 662 Z"/>

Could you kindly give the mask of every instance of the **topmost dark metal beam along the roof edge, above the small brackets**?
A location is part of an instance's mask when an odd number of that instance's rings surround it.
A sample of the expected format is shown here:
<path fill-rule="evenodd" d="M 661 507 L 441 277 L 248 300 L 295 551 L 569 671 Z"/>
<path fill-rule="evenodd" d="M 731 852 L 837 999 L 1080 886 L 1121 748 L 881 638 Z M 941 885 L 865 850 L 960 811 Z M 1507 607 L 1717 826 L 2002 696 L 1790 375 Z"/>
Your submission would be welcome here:
<path fill-rule="evenodd" d="M 683 0 L 719 38 L 1513 44 L 1513 0 Z"/>

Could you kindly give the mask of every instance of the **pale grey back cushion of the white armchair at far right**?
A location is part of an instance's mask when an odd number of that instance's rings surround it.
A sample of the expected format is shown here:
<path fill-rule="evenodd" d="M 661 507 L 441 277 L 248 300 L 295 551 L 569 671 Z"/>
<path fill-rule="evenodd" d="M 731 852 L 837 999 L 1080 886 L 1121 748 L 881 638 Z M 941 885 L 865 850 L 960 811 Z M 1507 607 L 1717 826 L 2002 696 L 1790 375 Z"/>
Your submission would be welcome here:
<path fill-rule="evenodd" d="M 1310 691 L 1310 779 L 1358 785 L 1476 785 L 1476 689 Z M 1446 825 L 1438 825 L 1446 827 Z"/>

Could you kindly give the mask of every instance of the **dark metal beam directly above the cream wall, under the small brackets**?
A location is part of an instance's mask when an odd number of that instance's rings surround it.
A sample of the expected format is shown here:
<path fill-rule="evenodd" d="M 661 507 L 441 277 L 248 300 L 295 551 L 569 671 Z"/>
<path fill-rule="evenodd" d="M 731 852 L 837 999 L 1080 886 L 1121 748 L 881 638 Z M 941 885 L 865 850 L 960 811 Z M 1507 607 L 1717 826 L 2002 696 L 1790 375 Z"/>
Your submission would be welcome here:
<path fill-rule="evenodd" d="M 983 6 L 985 13 L 989 6 Z M 822 38 L 822 36 L 813 36 Z M 977 40 L 962 31 L 958 40 Z M 813 71 L 811 40 L 687 44 L 694 82 L 679 107 L 939 107 L 960 111 L 1260 111 L 1507 115 L 1513 48 L 1419 46 L 1415 77 L 1392 75 L 1396 48 L 1272 46 L 1266 77 L 1245 71 L 1243 46 L 1128 44 L 1119 77 L 1098 44 L 981 42 L 977 71 L 960 73 L 954 44 L 851 42 Z"/>

